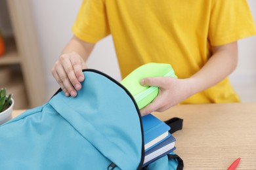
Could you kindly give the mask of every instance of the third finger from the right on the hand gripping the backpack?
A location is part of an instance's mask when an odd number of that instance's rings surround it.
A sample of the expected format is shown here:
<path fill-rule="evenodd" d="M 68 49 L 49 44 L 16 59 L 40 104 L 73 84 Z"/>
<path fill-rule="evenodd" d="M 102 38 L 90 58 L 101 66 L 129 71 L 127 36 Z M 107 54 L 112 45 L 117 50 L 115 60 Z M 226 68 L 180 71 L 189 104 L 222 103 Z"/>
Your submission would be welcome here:
<path fill-rule="evenodd" d="M 58 73 L 58 76 L 60 77 L 60 80 L 62 81 L 62 84 L 64 85 L 64 88 L 66 88 L 67 92 L 72 95 L 72 97 L 75 97 L 77 93 L 72 86 L 72 83 L 70 82 L 70 79 L 68 78 L 68 75 L 66 74 L 66 71 L 64 70 L 62 65 L 59 65 L 56 71 Z"/>

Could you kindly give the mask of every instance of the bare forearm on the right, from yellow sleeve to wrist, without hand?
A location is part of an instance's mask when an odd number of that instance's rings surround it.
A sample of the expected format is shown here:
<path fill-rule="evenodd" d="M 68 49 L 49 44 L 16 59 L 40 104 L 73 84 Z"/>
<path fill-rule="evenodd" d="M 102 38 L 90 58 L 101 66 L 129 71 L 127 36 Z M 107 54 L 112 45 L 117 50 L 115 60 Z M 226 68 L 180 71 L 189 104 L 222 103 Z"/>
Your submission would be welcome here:
<path fill-rule="evenodd" d="M 198 73 L 189 78 L 191 82 L 191 95 L 221 82 L 221 80 L 234 71 L 237 63 L 237 42 L 213 47 L 213 56 L 209 58 Z"/>

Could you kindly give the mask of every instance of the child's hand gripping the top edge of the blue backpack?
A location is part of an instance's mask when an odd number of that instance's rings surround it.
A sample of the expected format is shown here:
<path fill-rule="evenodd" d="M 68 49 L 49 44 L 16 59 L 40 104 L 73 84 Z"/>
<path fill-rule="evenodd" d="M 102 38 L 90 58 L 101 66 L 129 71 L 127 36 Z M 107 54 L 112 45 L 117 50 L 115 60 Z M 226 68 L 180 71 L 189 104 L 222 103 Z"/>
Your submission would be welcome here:
<path fill-rule="evenodd" d="M 76 90 L 81 89 L 80 82 L 85 79 L 82 69 L 86 68 L 85 61 L 81 56 L 72 52 L 60 56 L 54 64 L 52 74 L 65 95 L 75 97 L 77 95 Z"/>

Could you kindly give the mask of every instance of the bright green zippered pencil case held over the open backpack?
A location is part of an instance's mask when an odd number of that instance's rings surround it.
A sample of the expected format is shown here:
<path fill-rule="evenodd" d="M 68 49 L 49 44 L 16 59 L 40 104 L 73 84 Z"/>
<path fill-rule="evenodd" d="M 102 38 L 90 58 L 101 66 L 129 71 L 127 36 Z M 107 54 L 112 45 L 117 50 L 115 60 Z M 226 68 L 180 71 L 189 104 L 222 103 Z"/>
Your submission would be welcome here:
<path fill-rule="evenodd" d="M 170 64 L 146 63 L 132 71 L 123 80 L 121 80 L 120 83 L 133 95 L 139 109 L 142 109 L 151 103 L 154 98 L 158 96 L 159 91 L 156 86 L 140 85 L 140 80 L 146 77 L 156 76 L 171 76 L 177 78 Z"/>

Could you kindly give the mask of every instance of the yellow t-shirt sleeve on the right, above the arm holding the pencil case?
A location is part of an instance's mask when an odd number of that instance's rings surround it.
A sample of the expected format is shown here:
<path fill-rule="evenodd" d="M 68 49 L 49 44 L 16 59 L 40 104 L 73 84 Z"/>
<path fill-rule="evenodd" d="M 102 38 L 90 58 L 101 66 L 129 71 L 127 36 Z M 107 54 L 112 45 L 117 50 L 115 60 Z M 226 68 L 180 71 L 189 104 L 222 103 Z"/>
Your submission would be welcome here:
<path fill-rule="evenodd" d="M 246 0 L 212 1 L 208 35 L 212 46 L 251 35 L 256 35 L 256 28 Z"/>

